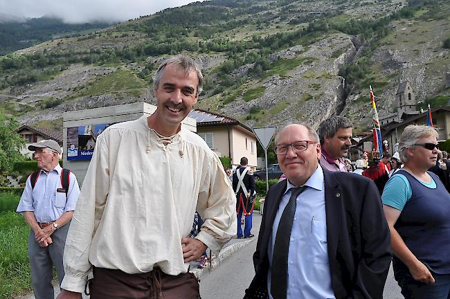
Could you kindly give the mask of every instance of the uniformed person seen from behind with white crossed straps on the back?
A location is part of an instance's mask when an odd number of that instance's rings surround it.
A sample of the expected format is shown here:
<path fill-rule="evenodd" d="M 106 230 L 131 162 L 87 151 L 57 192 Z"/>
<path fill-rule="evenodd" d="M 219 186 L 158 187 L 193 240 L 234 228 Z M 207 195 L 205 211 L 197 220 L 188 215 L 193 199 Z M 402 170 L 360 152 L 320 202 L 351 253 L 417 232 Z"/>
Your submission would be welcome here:
<path fill-rule="evenodd" d="M 249 238 L 251 234 L 253 206 L 255 206 L 255 179 L 248 173 L 249 159 L 242 157 L 240 167 L 233 174 L 233 190 L 236 193 L 237 237 Z M 242 235 L 241 218 L 245 216 L 244 235 Z"/>

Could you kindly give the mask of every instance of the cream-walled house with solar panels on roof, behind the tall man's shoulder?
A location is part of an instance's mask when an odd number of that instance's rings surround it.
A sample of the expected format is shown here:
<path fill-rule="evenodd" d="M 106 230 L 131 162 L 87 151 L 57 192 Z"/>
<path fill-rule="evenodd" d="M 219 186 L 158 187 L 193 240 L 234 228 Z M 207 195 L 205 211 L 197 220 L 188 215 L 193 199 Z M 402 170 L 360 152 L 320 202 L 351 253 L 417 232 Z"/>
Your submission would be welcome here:
<path fill-rule="evenodd" d="M 217 156 L 231 158 L 233 167 L 245 156 L 249 159 L 249 167 L 256 168 L 256 136 L 250 127 L 230 116 L 202 109 L 190 111 L 189 117 L 197 121 L 197 134 Z"/>

